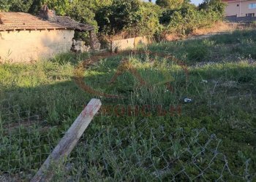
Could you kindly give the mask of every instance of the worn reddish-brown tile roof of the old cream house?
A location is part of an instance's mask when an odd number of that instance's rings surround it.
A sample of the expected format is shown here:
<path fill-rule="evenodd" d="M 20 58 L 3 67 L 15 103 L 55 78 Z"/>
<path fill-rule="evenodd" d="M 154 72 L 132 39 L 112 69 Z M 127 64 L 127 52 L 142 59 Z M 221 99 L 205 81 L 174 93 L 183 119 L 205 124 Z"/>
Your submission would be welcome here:
<path fill-rule="evenodd" d="M 42 20 L 40 17 L 23 12 L 0 12 L 0 31 L 45 29 L 92 31 L 94 27 L 65 16 L 56 16 L 55 20 Z"/>

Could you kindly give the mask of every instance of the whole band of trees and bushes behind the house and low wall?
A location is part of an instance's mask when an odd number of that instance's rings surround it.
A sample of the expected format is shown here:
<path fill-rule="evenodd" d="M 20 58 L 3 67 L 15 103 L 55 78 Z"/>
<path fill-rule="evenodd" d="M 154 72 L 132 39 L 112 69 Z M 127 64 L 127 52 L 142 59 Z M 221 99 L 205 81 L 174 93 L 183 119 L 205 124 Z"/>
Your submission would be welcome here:
<path fill-rule="evenodd" d="M 100 36 L 110 37 L 189 34 L 195 28 L 211 26 L 222 20 L 225 9 L 221 0 L 207 0 L 200 7 L 184 0 L 157 1 L 157 4 L 141 0 L 0 0 L 0 9 L 37 15 L 42 4 L 55 9 L 57 15 L 68 15 L 80 23 L 94 25 Z"/>

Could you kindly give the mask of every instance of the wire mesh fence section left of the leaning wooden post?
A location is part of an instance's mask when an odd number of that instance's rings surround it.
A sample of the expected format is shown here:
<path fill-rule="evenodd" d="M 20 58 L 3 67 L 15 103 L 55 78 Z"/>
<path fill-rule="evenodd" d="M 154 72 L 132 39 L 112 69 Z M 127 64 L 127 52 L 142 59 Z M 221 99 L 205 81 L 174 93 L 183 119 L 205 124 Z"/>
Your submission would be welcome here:
<path fill-rule="evenodd" d="M 0 107 L 0 181 L 28 181 L 59 138 L 38 115 L 7 100 Z"/>

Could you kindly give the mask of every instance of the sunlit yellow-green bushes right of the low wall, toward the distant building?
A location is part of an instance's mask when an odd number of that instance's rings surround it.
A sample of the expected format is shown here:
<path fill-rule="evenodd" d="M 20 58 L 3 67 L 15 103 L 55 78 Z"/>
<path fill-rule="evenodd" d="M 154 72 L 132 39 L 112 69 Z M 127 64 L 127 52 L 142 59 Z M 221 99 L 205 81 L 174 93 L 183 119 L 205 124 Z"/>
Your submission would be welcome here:
<path fill-rule="evenodd" d="M 225 3 L 220 0 L 206 0 L 199 9 L 192 4 L 183 4 L 180 9 L 165 9 L 159 22 L 166 25 L 167 33 L 192 33 L 196 28 L 204 28 L 222 20 Z"/>

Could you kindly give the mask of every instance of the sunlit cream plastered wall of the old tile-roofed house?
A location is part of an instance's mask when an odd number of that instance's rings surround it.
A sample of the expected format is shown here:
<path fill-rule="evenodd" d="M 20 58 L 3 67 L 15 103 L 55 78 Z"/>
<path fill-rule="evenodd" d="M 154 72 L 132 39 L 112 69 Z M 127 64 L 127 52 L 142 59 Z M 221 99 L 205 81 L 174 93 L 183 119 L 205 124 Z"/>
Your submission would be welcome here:
<path fill-rule="evenodd" d="M 0 31 L 0 61 L 29 62 L 68 52 L 72 30 Z"/>

